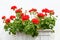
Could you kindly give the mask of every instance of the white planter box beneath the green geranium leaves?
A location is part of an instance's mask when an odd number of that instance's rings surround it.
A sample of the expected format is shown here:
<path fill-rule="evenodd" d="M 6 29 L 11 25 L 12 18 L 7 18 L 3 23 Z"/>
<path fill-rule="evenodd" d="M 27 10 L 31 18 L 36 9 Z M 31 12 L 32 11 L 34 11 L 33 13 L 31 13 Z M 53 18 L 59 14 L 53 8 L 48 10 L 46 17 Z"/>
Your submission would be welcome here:
<path fill-rule="evenodd" d="M 46 30 L 39 30 L 39 35 L 36 37 L 32 37 L 30 35 L 26 35 L 23 33 L 16 34 L 16 40 L 54 40 L 53 31 L 46 29 Z"/>

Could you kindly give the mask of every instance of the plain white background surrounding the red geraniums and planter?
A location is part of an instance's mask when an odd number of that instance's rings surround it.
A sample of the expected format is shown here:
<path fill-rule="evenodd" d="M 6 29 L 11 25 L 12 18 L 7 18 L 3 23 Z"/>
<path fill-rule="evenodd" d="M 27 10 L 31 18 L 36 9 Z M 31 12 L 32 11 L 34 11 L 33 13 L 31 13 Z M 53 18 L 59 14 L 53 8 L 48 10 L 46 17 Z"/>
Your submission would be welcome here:
<path fill-rule="evenodd" d="M 8 40 L 12 38 L 3 29 L 1 17 L 13 15 L 14 12 L 10 9 L 11 6 L 16 5 L 18 8 L 22 7 L 23 10 L 37 8 L 41 11 L 43 8 L 55 10 L 55 15 L 58 15 L 55 25 L 55 40 L 60 40 L 60 0 L 0 0 L 0 40 Z"/>

